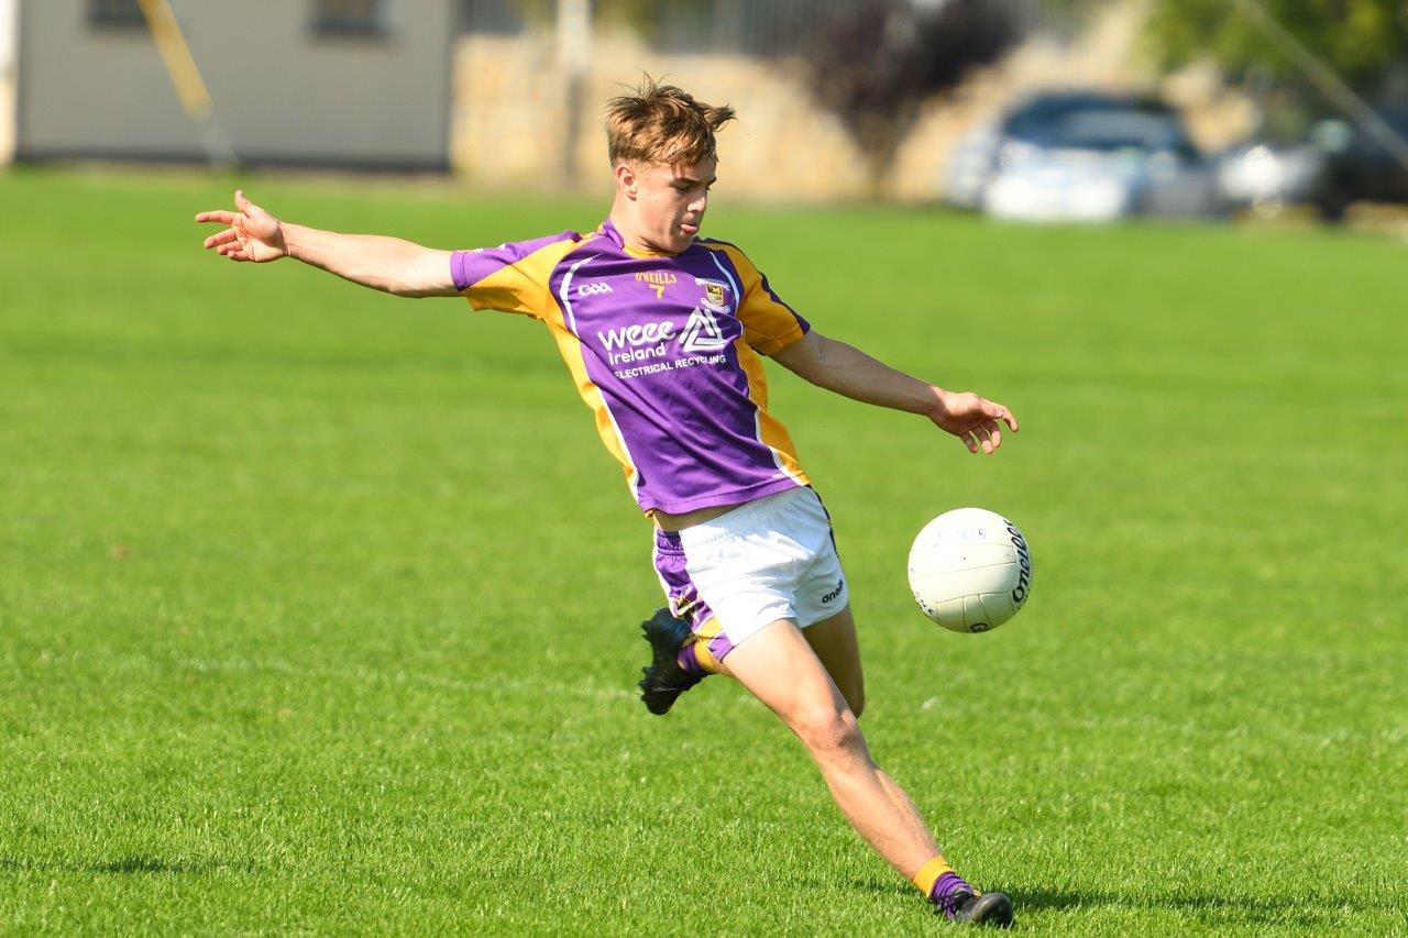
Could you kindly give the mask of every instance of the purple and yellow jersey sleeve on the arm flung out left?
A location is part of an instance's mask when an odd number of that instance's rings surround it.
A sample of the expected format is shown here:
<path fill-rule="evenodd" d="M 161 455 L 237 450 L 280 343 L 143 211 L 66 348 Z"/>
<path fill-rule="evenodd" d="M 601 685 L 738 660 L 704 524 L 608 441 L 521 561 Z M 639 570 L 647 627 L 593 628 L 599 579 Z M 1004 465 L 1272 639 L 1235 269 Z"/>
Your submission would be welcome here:
<path fill-rule="evenodd" d="M 503 310 L 541 320 L 552 303 L 552 272 L 579 239 L 577 232 L 563 231 L 497 248 L 455 251 L 449 259 L 455 289 L 476 310 Z"/>

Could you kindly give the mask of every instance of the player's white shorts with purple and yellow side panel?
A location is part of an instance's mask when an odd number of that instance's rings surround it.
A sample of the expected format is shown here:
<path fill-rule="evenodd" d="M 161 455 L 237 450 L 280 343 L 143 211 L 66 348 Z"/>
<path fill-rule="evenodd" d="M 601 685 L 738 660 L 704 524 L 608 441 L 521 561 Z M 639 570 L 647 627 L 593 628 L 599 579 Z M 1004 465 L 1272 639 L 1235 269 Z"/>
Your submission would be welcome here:
<path fill-rule="evenodd" d="M 684 528 L 655 532 L 670 613 L 722 661 L 765 625 L 801 628 L 846 607 L 850 592 L 831 515 L 811 489 L 788 489 Z"/>

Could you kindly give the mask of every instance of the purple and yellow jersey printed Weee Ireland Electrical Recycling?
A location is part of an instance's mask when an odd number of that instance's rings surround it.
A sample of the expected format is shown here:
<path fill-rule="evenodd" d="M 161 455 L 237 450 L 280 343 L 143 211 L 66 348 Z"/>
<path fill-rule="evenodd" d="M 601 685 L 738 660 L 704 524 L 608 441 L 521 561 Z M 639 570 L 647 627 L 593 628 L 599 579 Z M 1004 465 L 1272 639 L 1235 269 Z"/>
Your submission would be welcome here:
<path fill-rule="evenodd" d="M 676 255 L 591 234 L 456 251 L 455 287 L 476 310 L 542 320 L 601 442 L 642 510 L 738 504 L 807 484 L 767 413 L 760 355 L 810 328 L 725 241 Z"/>

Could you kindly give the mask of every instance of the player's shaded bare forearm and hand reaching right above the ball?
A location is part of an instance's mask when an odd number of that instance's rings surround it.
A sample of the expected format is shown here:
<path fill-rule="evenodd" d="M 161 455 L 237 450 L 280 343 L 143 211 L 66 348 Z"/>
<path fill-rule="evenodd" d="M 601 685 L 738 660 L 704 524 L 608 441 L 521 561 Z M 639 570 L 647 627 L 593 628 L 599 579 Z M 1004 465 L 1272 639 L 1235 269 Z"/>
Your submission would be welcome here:
<path fill-rule="evenodd" d="M 949 392 L 876 361 L 853 345 L 815 330 L 773 354 L 773 359 L 818 387 L 852 400 L 922 414 L 969 448 L 991 454 L 1002 445 L 1002 424 L 1017 432 L 1017 417 L 973 392 Z"/>

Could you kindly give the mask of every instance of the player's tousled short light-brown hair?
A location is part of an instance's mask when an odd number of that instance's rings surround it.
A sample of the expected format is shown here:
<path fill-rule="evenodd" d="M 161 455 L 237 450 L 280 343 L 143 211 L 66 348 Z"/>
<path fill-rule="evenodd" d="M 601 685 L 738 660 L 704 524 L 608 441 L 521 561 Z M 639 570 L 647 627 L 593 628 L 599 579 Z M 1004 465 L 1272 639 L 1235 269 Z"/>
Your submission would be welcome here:
<path fill-rule="evenodd" d="M 732 107 L 697 101 L 689 92 L 659 85 L 649 75 L 631 92 L 607 103 L 612 166 L 622 159 L 667 165 L 718 159 L 714 131 L 734 120 Z"/>

